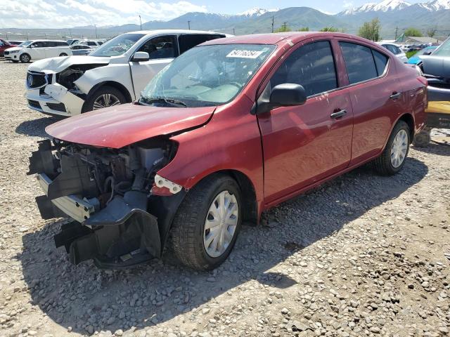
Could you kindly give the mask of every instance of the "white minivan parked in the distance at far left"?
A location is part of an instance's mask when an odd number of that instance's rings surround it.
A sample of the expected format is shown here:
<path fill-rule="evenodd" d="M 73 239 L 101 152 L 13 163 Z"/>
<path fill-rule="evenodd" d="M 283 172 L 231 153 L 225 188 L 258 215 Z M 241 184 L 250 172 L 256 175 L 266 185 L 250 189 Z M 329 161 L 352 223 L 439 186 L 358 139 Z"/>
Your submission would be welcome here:
<path fill-rule="evenodd" d="M 28 63 L 44 58 L 72 55 L 66 41 L 58 40 L 32 40 L 25 41 L 17 47 L 5 52 L 5 59 L 13 62 Z"/>

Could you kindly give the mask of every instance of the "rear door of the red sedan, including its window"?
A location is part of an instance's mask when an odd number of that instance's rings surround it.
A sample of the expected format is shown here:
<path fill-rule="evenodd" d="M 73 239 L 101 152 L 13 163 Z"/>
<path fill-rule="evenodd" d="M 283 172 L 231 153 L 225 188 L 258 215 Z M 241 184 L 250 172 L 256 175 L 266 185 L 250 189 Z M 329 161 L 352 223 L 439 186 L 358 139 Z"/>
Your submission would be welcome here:
<path fill-rule="evenodd" d="M 352 161 L 378 154 L 385 145 L 392 123 L 406 106 L 395 65 L 387 54 L 364 43 L 339 41 L 349 78 L 354 114 Z"/>

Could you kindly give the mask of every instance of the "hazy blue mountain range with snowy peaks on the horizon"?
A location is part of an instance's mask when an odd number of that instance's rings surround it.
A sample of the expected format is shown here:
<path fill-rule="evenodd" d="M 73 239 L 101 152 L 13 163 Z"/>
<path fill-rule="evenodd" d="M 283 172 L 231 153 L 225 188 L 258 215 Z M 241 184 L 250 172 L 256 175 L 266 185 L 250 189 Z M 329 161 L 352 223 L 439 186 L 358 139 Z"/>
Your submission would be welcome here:
<path fill-rule="evenodd" d="M 191 29 L 215 30 L 229 34 L 254 34 L 271 32 L 272 20 L 274 28 L 287 25 L 297 30 L 309 27 L 319 30 L 323 27 L 334 27 L 355 34 L 359 27 L 373 18 L 381 24 L 383 39 L 392 39 L 408 28 L 415 27 L 423 31 L 435 28 L 439 36 L 450 34 L 450 0 L 432 0 L 418 4 L 410 4 L 403 0 L 383 0 L 380 3 L 368 3 L 356 8 L 348 8 L 337 14 L 326 14 L 309 7 L 290 7 L 282 9 L 252 8 L 236 15 L 216 13 L 186 13 L 169 21 L 149 21 L 142 24 L 143 29 Z M 139 30 L 139 25 L 129 24 L 115 27 L 97 27 L 102 36 L 113 36 L 122 32 Z M 6 29 L 0 29 L 6 30 Z M 8 32 L 21 29 L 8 28 Z M 34 29 L 39 31 L 39 29 Z M 41 29 L 49 32 L 49 29 Z M 55 29 L 67 32 L 68 29 Z M 73 27 L 72 34 L 92 36 L 93 26 Z M 30 32 L 30 29 L 27 29 Z"/>

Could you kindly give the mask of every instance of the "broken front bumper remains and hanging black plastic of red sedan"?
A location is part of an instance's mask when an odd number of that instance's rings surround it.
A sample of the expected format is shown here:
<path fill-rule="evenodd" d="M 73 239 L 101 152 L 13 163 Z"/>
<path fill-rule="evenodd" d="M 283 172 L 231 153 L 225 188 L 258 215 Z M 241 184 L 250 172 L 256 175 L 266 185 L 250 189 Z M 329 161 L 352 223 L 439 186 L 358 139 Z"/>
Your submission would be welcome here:
<path fill-rule="evenodd" d="M 73 219 L 54 237 L 57 247 L 65 246 L 70 261 L 77 265 L 94 259 L 98 267 L 117 268 L 160 258 L 184 193 L 151 199 L 130 190 L 100 209 L 98 199 L 82 197 L 92 188 L 87 164 L 76 157 L 56 159 L 52 150 L 50 140 L 39 142 L 39 150 L 30 157 L 28 174 L 37 173 L 44 192 L 36 198 L 41 217 Z M 60 170 L 55 165 L 58 160 Z"/>

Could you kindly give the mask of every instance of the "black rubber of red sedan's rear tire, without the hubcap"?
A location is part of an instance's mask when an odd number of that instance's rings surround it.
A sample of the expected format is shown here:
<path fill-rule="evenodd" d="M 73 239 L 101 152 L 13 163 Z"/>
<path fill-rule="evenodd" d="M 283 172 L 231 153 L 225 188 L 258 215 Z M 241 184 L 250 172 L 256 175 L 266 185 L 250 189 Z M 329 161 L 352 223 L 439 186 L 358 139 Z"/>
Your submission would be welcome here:
<path fill-rule="evenodd" d="M 406 142 L 406 154 L 401 164 L 398 167 L 394 167 L 391 161 L 392 144 L 394 143 L 395 136 L 397 136 L 397 133 L 399 133 L 399 131 L 401 130 L 406 131 L 406 135 L 408 137 L 408 140 Z M 375 168 L 375 171 L 377 171 L 382 176 L 392 176 L 393 174 L 401 170 L 401 168 L 405 164 L 406 157 L 408 157 L 409 144 L 411 143 L 410 135 L 411 131 L 409 130 L 408 124 L 406 124 L 405 121 L 398 121 L 397 124 L 395 124 L 394 129 L 392 130 L 389 140 L 387 140 L 385 150 L 383 150 L 383 153 L 380 155 L 380 157 L 373 161 L 373 167 Z"/>

